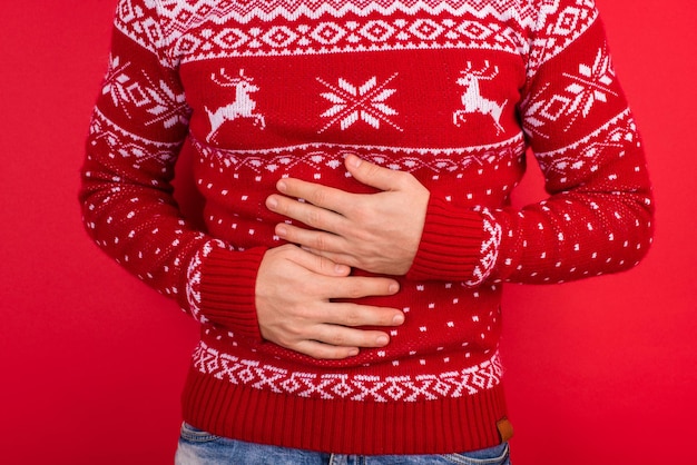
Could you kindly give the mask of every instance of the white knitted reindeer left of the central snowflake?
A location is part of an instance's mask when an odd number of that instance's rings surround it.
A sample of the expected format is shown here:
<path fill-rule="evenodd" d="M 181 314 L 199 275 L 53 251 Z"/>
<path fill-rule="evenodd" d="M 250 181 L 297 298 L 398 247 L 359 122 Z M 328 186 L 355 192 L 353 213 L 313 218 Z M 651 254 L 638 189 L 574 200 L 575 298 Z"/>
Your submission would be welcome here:
<path fill-rule="evenodd" d="M 254 112 L 256 102 L 249 98 L 249 93 L 259 90 L 258 86 L 253 83 L 254 79 L 245 76 L 244 69 L 239 70 L 239 77 L 236 78 L 227 76 L 225 68 L 220 68 L 218 75 L 215 72 L 212 73 L 210 79 L 218 86 L 234 87 L 235 101 L 226 105 L 225 107 L 220 107 L 215 111 L 210 111 L 207 107 L 205 107 L 206 112 L 208 113 L 208 119 L 210 120 L 210 132 L 208 133 L 208 137 L 206 137 L 206 140 L 210 142 L 225 121 L 234 121 L 237 118 L 253 118 L 254 125 L 259 125 L 261 128 L 264 129 L 266 127 L 264 116 Z"/>

